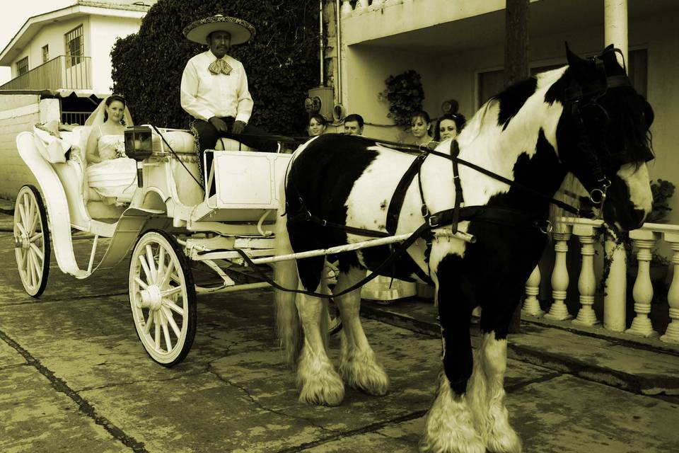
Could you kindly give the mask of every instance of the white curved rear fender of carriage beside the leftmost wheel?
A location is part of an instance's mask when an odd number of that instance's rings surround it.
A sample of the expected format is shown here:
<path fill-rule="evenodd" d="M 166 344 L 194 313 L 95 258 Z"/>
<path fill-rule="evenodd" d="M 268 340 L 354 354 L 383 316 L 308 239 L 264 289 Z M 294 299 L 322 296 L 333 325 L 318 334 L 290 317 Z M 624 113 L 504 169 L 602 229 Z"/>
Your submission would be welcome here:
<path fill-rule="evenodd" d="M 33 133 L 20 132 L 16 136 L 16 149 L 40 186 L 40 193 L 47 207 L 54 256 L 57 258 L 59 269 L 76 277 L 82 275 L 84 271 L 78 268 L 71 243 L 69 203 L 57 172 L 42 158 L 35 147 Z"/>

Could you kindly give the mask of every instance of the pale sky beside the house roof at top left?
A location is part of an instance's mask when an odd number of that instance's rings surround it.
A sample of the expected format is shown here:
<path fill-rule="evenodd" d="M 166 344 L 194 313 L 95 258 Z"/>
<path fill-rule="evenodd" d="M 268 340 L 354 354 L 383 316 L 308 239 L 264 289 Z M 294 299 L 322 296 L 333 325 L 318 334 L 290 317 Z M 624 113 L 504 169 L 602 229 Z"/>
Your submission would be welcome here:
<path fill-rule="evenodd" d="M 75 0 L 4 0 L 0 13 L 0 50 L 4 49 L 31 16 L 74 4 Z M 0 66 L 0 84 L 11 79 L 11 69 Z"/>

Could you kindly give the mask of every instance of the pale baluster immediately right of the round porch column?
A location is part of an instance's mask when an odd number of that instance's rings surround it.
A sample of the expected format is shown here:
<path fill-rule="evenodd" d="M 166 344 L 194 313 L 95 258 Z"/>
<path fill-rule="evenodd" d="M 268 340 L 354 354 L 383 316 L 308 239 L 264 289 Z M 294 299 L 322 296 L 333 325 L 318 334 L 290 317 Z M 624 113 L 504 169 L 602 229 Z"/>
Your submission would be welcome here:
<path fill-rule="evenodd" d="M 632 239 L 634 246 L 638 248 L 637 263 L 639 263 L 639 270 L 637 270 L 637 280 L 634 280 L 634 288 L 632 289 L 634 311 L 637 316 L 634 316 L 632 320 L 632 327 L 625 332 L 644 337 L 656 336 L 657 332 L 653 330 L 651 319 L 649 319 L 651 301 L 653 300 L 653 285 L 651 285 L 649 266 L 651 264 L 651 248 L 656 244 L 658 234 L 654 231 L 638 229 L 629 232 L 629 239 Z"/>

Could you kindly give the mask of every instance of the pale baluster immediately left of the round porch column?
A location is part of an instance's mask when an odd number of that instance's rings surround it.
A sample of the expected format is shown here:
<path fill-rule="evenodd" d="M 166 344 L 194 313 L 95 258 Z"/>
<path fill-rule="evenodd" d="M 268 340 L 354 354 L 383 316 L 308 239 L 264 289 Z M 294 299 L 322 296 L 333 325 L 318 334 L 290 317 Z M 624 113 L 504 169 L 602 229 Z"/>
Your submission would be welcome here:
<path fill-rule="evenodd" d="M 594 277 L 594 228 L 591 225 L 575 225 L 573 234 L 578 236 L 581 244 L 582 265 L 578 278 L 578 292 L 580 293 L 580 309 L 573 323 L 581 326 L 593 326 L 598 321 L 592 308 L 596 277 Z"/>

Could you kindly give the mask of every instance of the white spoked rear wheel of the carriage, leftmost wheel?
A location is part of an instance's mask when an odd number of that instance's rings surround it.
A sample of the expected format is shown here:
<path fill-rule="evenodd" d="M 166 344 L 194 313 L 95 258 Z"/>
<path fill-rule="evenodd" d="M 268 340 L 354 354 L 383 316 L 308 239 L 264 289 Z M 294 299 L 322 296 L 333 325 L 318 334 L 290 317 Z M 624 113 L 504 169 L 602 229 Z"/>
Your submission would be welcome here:
<path fill-rule="evenodd" d="M 23 289 L 39 297 L 50 274 L 50 229 L 42 197 L 33 185 L 24 185 L 16 196 L 14 256 Z"/>

